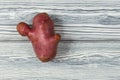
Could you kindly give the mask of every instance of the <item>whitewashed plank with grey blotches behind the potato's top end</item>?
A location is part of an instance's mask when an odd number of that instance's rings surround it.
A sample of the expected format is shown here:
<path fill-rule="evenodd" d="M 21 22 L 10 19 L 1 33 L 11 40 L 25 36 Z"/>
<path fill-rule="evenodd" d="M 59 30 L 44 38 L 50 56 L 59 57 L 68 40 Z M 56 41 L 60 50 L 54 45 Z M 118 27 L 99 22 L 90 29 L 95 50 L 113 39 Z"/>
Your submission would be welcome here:
<path fill-rule="evenodd" d="M 14 25 L 20 21 L 32 23 L 32 18 L 39 12 L 47 12 L 54 20 L 56 25 L 64 24 L 101 24 L 119 25 L 120 6 L 80 6 L 71 4 L 69 6 L 35 4 L 13 5 L 1 3 L 0 5 L 0 24 Z M 17 5 L 18 4 L 18 5 Z M 6 5 L 6 6 L 4 6 Z M 75 5 L 75 6 L 74 6 Z M 7 13 L 9 11 L 9 13 Z"/>

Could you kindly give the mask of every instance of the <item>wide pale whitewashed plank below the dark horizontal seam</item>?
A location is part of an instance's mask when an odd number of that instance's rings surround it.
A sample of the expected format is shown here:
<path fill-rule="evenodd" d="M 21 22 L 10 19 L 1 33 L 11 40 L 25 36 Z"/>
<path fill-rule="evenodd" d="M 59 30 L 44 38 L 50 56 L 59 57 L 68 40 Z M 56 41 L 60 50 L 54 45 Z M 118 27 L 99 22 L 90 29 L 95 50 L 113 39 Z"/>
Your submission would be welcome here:
<path fill-rule="evenodd" d="M 0 44 L 1 80 L 120 78 L 119 42 L 62 41 L 56 58 L 48 63 L 41 63 L 35 57 L 29 42 L 14 41 Z"/>

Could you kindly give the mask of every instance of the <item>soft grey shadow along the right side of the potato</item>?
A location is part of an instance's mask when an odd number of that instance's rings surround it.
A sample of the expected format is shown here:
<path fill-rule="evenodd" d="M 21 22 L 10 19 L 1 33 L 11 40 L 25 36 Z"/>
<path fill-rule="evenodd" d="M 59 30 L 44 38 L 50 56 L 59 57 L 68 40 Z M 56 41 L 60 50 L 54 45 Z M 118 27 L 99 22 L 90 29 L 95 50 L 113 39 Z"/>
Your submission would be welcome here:
<path fill-rule="evenodd" d="M 73 41 L 65 38 L 65 33 L 64 33 L 65 30 L 63 28 L 65 26 L 62 26 L 64 22 L 61 19 L 59 19 L 59 17 L 57 17 L 57 15 L 50 15 L 50 17 L 54 21 L 55 29 L 56 29 L 56 27 L 60 26 L 60 31 L 55 30 L 55 33 L 59 32 L 58 34 L 61 35 L 61 41 L 58 44 L 56 57 L 53 59 L 53 62 L 60 62 L 60 61 L 62 61 L 62 58 L 67 57 L 68 52 L 71 48 L 70 44 Z"/>

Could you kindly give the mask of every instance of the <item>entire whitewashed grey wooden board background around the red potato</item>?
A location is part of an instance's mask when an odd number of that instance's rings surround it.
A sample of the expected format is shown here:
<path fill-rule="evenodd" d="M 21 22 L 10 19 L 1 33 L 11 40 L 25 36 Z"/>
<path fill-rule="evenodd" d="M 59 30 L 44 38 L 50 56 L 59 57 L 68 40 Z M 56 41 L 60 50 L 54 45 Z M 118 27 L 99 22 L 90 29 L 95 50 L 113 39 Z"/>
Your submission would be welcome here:
<path fill-rule="evenodd" d="M 62 35 L 48 63 L 16 31 L 39 12 Z M 120 0 L 0 0 L 0 80 L 120 80 Z"/>

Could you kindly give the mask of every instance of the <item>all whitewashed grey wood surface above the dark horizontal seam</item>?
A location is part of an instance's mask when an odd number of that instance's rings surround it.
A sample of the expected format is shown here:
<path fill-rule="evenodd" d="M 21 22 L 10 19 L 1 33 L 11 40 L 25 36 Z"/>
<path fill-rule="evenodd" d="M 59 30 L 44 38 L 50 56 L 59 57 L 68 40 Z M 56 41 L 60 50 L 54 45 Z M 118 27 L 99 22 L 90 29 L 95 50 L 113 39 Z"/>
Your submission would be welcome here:
<path fill-rule="evenodd" d="M 1 1 L 0 35 L 17 34 L 16 24 L 25 21 L 31 25 L 37 13 L 47 12 L 62 40 L 120 40 L 119 0 L 86 1 Z M 11 31 L 6 30 L 8 27 Z"/>

